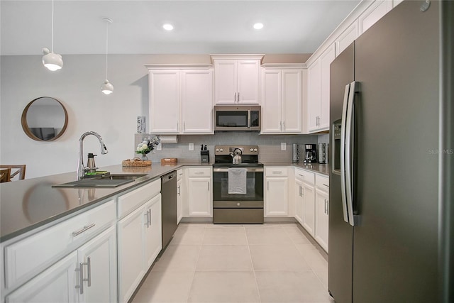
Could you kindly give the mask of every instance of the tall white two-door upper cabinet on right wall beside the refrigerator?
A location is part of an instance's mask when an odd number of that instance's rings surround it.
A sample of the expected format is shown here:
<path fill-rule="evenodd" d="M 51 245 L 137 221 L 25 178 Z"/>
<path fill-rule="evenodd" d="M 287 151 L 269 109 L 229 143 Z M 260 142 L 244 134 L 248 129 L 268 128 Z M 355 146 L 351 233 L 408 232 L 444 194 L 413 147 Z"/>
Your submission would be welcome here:
<path fill-rule="evenodd" d="M 308 68 L 307 128 L 309 133 L 329 129 L 329 76 L 335 58 L 331 45 Z"/>

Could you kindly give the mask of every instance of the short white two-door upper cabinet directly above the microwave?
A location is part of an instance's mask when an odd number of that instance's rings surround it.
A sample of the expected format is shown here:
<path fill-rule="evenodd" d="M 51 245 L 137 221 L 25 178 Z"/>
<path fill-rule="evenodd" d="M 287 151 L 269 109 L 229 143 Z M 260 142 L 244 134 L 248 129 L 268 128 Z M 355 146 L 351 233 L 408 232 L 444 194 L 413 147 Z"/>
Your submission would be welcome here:
<path fill-rule="evenodd" d="M 263 55 L 211 55 L 215 104 L 260 104 Z"/>

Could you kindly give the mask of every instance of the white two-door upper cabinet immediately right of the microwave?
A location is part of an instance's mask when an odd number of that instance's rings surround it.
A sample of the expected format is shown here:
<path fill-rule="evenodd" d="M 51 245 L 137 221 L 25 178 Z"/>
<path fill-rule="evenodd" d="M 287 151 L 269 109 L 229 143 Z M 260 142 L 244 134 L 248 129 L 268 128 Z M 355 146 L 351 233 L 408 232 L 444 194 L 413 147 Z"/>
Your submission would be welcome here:
<path fill-rule="evenodd" d="M 262 69 L 262 133 L 301 133 L 303 70 Z"/>

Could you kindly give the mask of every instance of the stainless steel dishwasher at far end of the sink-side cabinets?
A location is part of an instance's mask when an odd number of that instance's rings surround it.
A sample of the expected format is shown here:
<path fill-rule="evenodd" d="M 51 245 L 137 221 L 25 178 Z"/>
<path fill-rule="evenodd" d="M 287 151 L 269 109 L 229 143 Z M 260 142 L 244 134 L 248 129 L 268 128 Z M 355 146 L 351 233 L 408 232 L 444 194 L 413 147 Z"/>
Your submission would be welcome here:
<path fill-rule="evenodd" d="M 177 230 L 177 172 L 161 177 L 162 195 L 162 251 Z"/>

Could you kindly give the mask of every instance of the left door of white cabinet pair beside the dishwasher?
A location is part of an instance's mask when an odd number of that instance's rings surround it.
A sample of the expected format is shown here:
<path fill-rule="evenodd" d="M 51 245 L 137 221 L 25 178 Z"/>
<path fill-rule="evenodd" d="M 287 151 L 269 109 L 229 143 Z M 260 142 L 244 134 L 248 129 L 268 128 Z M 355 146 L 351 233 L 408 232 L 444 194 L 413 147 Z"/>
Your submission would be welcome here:
<path fill-rule="evenodd" d="M 139 285 L 143 266 L 143 231 L 145 224 L 143 207 L 118 221 L 118 301 L 128 302 Z"/>

